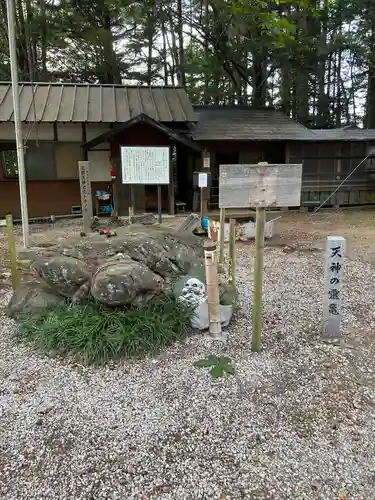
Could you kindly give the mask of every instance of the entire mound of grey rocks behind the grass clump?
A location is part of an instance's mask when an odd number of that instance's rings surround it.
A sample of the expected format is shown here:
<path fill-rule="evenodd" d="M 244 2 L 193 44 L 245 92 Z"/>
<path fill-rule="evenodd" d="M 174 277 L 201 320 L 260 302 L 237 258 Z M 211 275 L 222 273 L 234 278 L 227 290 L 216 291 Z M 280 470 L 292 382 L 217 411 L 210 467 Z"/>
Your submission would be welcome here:
<path fill-rule="evenodd" d="M 53 306 L 62 297 L 74 302 L 92 297 L 108 307 L 142 307 L 152 297 L 170 291 L 171 283 L 181 276 L 195 275 L 199 269 L 204 279 L 201 238 L 162 225 L 132 224 L 117 227 L 116 233 L 111 238 L 97 232 L 77 235 L 48 248 L 20 252 L 23 279 L 40 284 L 30 285 L 32 294 L 20 285 L 10 314 L 14 304 L 17 311 L 23 307 L 37 311 L 43 301 Z M 26 268 L 33 274 L 25 274 Z"/>

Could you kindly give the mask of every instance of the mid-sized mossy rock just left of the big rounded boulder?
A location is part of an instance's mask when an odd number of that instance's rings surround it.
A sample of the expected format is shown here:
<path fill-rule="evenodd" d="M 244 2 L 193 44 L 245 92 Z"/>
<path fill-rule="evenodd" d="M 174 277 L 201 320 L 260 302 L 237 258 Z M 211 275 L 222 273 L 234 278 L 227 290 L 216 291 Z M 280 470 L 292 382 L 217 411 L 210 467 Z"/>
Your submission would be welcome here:
<path fill-rule="evenodd" d="M 41 280 L 63 297 L 73 297 L 90 280 L 84 262 L 62 255 L 41 257 L 34 262 L 33 269 Z"/>

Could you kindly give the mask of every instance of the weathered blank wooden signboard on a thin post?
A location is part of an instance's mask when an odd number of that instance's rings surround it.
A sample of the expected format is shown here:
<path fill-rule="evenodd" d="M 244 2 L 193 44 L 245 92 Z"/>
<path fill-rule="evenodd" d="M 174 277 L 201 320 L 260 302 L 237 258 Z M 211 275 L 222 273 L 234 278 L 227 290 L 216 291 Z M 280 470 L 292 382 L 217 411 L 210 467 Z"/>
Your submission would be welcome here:
<path fill-rule="evenodd" d="M 220 208 L 297 207 L 302 165 L 220 165 Z"/>

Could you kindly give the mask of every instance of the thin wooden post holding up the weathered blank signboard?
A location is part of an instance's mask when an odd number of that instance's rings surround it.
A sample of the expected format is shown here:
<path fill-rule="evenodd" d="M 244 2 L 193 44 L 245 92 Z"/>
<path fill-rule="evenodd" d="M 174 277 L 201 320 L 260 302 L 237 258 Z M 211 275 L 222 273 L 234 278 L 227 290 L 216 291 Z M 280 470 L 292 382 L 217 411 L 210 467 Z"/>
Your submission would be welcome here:
<path fill-rule="evenodd" d="M 264 227 L 266 221 L 266 209 L 259 207 L 256 209 L 256 229 L 255 229 L 255 263 L 254 263 L 254 292 L 252 311 L 252 350 L 260 352 L 262 335 L 262 288 L 264 273 Z"/>

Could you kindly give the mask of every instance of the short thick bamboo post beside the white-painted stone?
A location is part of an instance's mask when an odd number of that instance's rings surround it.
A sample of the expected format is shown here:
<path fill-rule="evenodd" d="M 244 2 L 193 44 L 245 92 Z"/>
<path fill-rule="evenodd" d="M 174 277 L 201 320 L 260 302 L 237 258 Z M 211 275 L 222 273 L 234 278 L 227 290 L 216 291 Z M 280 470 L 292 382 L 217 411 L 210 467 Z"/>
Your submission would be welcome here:
<path fill-rule="evenodd" d="M 210 322 L 210 335 L 221 336 L 221 314 L 219 282 L 217 279 L 217 252 L 216 245 L 208 241 L 204 247 L 204 262 L 206 269 L 208 318 Z"/>

